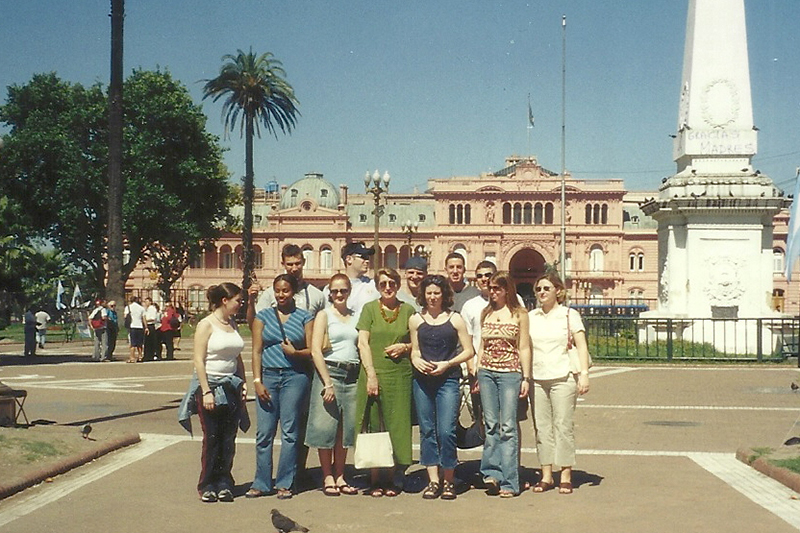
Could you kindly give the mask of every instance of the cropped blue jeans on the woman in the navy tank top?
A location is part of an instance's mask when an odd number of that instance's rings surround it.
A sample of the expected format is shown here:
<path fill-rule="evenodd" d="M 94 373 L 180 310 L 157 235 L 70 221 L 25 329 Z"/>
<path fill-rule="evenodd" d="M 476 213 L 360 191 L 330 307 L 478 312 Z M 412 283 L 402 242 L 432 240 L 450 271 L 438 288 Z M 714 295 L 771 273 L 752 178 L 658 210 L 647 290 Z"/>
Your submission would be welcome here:
<path fill-rule="evenodd" d="M 419 464 L 454 469 L 458 465 L 456 422 L 461 401 L 458 378 L 415 376 L 412 391 L 419 422 Z"/>

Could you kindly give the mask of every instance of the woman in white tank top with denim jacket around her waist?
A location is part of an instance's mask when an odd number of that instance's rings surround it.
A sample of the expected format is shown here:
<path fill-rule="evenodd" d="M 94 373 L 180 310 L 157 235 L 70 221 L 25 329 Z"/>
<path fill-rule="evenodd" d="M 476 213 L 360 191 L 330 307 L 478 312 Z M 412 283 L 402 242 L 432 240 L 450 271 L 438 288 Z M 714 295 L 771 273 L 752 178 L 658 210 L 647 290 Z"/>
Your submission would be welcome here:
<path fill-rule="evenodd" d="M 250 427 L 242 362 L 244 340 L 234 318 L 242 303 L 242 290 L 233 283 L 222 283 L 210 287 L 207 297 L 211 313 L 197 324 L 194 375 L 181 402 L 178 421 L 191 431 L 191 414 L 200 417 L 200 500 L 232 502 L 236 432 L 237 428 L 247 431 Z"/>

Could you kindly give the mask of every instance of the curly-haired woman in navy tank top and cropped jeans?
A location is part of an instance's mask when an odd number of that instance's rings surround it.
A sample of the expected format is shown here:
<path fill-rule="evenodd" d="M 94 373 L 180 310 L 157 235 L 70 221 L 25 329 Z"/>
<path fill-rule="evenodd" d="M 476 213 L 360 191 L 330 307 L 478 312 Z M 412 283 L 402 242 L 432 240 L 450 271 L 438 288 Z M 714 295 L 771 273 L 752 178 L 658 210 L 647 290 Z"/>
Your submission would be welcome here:
<path fill-rule="evenodd" d="M 409 319 L 413 394 L 419 422 L 420 464 L 429 483 L 422 497 L 456 498 L 453 477 L 461 363 L 472 358 L 472 340 L 453 305 L 453 290 L 444 276 L 426 276 L 417 302 L 422 312 Z M 460 348 L 460 351 L 459 351 Z"/>

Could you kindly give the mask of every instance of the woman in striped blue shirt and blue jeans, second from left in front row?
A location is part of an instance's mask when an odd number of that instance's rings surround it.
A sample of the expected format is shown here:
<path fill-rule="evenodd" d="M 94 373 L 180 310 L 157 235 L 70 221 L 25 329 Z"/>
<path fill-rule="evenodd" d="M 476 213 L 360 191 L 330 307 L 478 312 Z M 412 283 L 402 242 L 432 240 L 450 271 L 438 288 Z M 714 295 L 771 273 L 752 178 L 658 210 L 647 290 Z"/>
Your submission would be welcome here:
<path fill-rule="evenodd" d="M 293 496 L 300 440 L 300 418 L 308 404 L 311 374 L 311 332 L 314 319 L 294 300 L 297 278 L 281 274 L 272 283 L 275 307 L 258 312 L 253 320 L 253 382 L 257 396 L 256 473 L 248 498 L 271 494 Z M 281 453 L 272 479 L 272 449 L 278 422 Z"/>

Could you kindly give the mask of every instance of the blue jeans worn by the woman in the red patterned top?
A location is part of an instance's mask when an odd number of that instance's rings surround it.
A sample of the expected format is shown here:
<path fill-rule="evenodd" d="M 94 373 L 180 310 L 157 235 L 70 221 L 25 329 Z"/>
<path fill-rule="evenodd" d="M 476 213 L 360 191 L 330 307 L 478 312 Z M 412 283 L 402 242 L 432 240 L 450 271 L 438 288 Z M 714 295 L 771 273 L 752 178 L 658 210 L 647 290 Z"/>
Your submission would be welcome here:
<path fill-rule="evenodd" d="M 478 370 L 486 441 L 481 457 L 481 474 L 493 479 L 501 490 L 519 493 L 519 435 L 517 405 L 522 374 Z"/>

